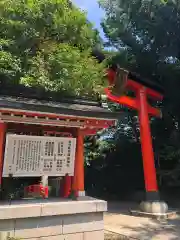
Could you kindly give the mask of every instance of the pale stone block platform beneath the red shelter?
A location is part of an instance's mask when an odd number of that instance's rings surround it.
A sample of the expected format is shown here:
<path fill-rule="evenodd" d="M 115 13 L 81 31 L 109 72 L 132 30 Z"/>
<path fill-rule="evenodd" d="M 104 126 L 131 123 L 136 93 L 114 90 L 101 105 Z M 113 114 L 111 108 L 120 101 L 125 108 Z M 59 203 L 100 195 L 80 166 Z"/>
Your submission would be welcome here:
<path fill-rule="evenodd" d="M 104 239 L 101 200 L 27 200 L 0 205 L 0 239 L 29 240 Z"/>

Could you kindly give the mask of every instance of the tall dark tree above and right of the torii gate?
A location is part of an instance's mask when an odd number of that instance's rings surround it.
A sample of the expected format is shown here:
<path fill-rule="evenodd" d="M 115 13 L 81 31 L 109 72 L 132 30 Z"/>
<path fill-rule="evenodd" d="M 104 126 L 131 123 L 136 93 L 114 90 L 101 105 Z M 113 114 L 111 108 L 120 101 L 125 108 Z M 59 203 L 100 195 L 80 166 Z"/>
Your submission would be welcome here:
<path fill-rule="evenodd" d="M 164 87 L 163 119 L 152 121 L 153 142 L 160 175 L 175 182 L 180 176 L 179 1 L 102 0 L 100 5 L 106 44 L 117 49 L 113 61 Z"/>

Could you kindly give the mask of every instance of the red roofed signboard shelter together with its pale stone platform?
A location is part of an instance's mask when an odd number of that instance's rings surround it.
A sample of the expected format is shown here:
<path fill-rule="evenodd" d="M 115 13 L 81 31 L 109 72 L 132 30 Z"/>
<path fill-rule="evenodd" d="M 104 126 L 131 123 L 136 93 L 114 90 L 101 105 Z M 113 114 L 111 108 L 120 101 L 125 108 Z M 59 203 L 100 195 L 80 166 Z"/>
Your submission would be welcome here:
<path fill-rule="evenodd" d="M 114 125 L 118 115 L 97 101 L 52 100 L 31 90 L 0 86 L 0 193 L 8 196 L 0 204 L 1 235 L 103 240 L 107 203 L 85 196 L 84 136 Z M 16 183 L 24 192 L 12 198 Z"/>

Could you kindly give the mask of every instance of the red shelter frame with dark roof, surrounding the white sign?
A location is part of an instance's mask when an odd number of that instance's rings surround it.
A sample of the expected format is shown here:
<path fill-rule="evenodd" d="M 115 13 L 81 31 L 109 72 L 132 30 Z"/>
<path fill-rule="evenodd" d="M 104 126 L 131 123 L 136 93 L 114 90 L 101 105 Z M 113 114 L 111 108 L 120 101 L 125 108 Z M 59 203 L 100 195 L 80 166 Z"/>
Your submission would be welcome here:
<path fill-rule="evenodd" d="M 69 192 L 68 182 L 72 179 L 76 196 L 84 196 L 84 136 L 115 125 L 117 117 L 117 114 L 103 109 L 97 101 L 73 98 L 56 102 L 37 100 L 24 90 L 4 89 L 0 95 L 0 185 L 3 183 L 7 134 L 70 136 L 76 138 L 74 176 L 66 176 L 64 194 Z"/>

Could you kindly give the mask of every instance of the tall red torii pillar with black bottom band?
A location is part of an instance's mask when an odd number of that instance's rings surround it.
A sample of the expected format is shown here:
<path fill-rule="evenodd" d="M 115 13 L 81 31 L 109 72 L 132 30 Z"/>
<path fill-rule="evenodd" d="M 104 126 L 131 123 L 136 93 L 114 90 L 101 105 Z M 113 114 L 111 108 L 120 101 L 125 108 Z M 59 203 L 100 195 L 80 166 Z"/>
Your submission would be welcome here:
<path fill-rule="evenodd" d="M 146 188 L 147 200 L 159 200 L 156 169 L 154 163 L 154 153 L 152 147 L 151 131 L 148 115 L 148 104 L 146 88 L 142 87 L 138 91 L 138 99 L 140 105 L 139 120 L 140 120 L 140 136 L 141 148 L 144 167 L 144 180 Z"/>

